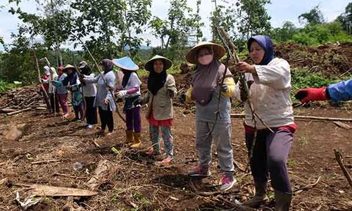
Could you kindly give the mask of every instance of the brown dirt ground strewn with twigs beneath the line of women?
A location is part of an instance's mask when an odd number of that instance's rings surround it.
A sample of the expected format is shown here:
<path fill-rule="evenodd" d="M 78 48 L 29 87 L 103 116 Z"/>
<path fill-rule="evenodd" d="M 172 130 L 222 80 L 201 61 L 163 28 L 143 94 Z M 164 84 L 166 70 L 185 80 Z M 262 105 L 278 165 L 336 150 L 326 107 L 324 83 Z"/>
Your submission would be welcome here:
<path fill-rule="evenodd" d="M 120 108 L 122 105 L 120 105 Z M 122 144 L 125 139 L 124 123 L 115 114 L 115 133 L 98 136 L 98 128 L 84 129 L 82 122 L 63 121 L 61 117 L 44 111 L 30 111 L 13 117 L 2 117 L 1 124 L 30 124 L 30 129 L 20 141 L 6 141 L 0 136 L 0 210 L 20 210 L 15 202 L 15 191 L 21 200 L 28 190 L 21 184 L 46 184 L 72 188 L 87 188 L 85 183 L 99 160 L 111 161 L 113 167 L 101 179 L 98 194 L 92 197 L 75 197 L 74 202 L 85 210 L 240 210 L 233 201 L 243 201 L 253 196 L 253 181 L 249 173 L 237 169 L 239 182 L 229 193 L 214 193 L 220 180 L 217 158 L 213 155 L 213 173 L 207 179 L 190 179 L 187 172 L 196 166 L 194 147 L 194 113 L 183 114 L 184 108 L 175 108 L 172 132 L 175 139 L 175 162 L 170 167 L 158 167 L 143 151 L 132 151 Z M 145 108 L 143 115 L 145 113 Z M 233 110 L 236 113 L 236 110 Z M 296 115 L 352 118 L 351 103 L 342 108 L 329 105 L 296 108 Z M 243 120 L 232 121 L 232 146 L 234 159 L 246 166 Z M 289 174 L 294 190 L 292 210 L 352 210 L 352 188 L 334 158 L 333 149 L 344 155 L 344 163 L 352 174 L 352 129 L 337 127 L 332 122 L 297 120 L 289 155 Z M 347 122 L 352 126 L 351 122 Z M 151 146 L 148 124 L 143 118 L 143 147 Z M 101 148 L 97 148 L 93 141 Z M 162 142 L 162 141 L 161 141 Z M 111 150 L 115 147 L 115 153 Z M 60 160 L 59 162 L 32 165 L 31 162 Z M 82 169 L 75 170 L 75 162 Z M 304 188 L 314 184 L 311 188 Z M 203 192 L 202 192 L 203 191 Z M 273 198 L 272 188 L 268 187 Z M 216 192 L 215 192 L 216 193 Z M 28 210 L 62 210 L 67 197 L 43 198 Z M 274 203 L 263 205 L 272 209 Z"/>

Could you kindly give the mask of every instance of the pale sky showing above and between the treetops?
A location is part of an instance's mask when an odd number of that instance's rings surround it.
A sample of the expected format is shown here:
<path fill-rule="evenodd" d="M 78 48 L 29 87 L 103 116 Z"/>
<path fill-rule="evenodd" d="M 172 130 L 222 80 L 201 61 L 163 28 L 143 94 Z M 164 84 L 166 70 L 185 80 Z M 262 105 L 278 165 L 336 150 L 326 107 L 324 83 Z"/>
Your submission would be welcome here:
<path fill-rule="evenodd" d="M 36 4 L 34 0 L 22 0 L 20 7 L 23 11 L 30 13 L 36 12 Z M 89 1 L 89 0 L 88 0 Z M 103 0 L 102 0 L 103 1 Z M 233 0 L 218 0 L 218 4 L 230 5 L 229 2 Z M 272 0 L 271 4 L 268 4 L 268 13 L 271 16 L 271 24 L 273 27 L 281 27 L 282 23 L 289 20 L 296 25 L 296 27 L 301 27 L 298 23 L 298 15 L 310 11 L 314 6 L 319 5 L 320 10 L 325 15 L 327 21 L 332 21 L 337 18 L 338 15 L 344 13 L 344 10 L 347 4 L 351 0 Z M 196 10 L 196 0 L 188 0 L 188 5 Z M 0 0 L 0 37 L 4 38 L 6 44 L 11 43 L 11 33 L 17 33 L 18 24 L 20 20 L 8 13 L 8 10 L 11 6 L 15 4 L 8 4 L 8 0 Z M 170 6 L 169 0 L 153 0 L 151 6 L 152 15 L 156 15 L 159 18 L 167 18 L 168 8 Z M 211 0 L 202 0 L 201 2 L 201 17 L 202 21 L 205 24 L 203 27 L 203 37 L 206 40 L 211 39 L 210 33 L 210 12 L 214 10 L 214 5 Z M 160 45 L 160 41 L 153 37 L 149 30 L 146 33 L 142 34 L 142 37 L 145 39 L 151 40 L 152 46 Z M 38 39 L 40 41 L 40 39 Z M 70 44 L 66 44 L 70 46 Z M 0 46 L 0 50 L 2 46 Z"/>

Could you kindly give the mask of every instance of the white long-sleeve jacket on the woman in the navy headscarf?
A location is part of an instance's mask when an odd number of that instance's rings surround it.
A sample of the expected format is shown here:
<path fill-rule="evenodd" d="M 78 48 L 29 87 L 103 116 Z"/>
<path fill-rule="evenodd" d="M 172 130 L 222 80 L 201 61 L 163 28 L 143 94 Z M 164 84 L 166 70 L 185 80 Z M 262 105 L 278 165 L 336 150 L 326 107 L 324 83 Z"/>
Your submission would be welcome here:
<path fill-rule="evenodd" d="M 246 73 L 246 81 L 254 81 L 249 95 L 254 110 L 269 127 L 294 124 L 291 106 L 291 72 L 289 63 L 282 58 L 274 58 L 268 65 L 255 65 L 257 75 Z M 239 82 L 236 84 L 236 98 L 241 101 Z M 254 127 L 249 104 L 244 106 L 245 124 Z M 256 118 L 257 129 L 266 127 Z"/>

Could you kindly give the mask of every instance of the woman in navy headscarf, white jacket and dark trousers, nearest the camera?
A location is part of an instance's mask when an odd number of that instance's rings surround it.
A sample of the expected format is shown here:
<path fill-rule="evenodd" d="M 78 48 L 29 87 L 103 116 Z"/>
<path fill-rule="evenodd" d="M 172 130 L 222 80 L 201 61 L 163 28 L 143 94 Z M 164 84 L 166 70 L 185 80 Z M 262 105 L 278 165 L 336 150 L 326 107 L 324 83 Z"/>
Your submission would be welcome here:
<path fill-rule="evenodd" d="M 288 211 L 292 189 L 287 172 L 287 157 L 296 130 L 290 98 L 290 65 L 286 60 L 274 57 L 272 41 L 266 35 L 251 37 L 247 47 L 255 65 L 239 62 L 237 70 L 245 72 L 253 110 L 273 133 L 257 117 L 252 116 L 242 86 L 237 83 L 237 98 L 246 101 L 244 106 L 246 146 L 251 157 L 251 172 L 256 187 L 253 199 L 244 204 L 257 207 L 268 199 L 266 188 L 270 174 L 271 185 L 275 189 L 275 210 Z M 256 118 L 256 125 L 253 118 Z M 256 141 L 253 140 L 255 133 Z"/>

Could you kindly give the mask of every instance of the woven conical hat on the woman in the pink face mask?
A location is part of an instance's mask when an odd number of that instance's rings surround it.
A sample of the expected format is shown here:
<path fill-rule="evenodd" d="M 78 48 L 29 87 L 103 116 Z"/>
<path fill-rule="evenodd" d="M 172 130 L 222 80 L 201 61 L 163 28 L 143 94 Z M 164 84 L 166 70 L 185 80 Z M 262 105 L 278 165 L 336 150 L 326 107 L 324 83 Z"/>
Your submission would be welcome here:
<path fill-rule="evenodd" d="M 188 51 L 186 55 L 186 60 L 189 63 L 196 64 L 198 51 L 203 47 L 210 47 L 211 49 L 213 49 L 214 58 L 216 60 L 222 58 L 222 56 L 224 56 L 226 53 L 225 48 L 220 46 L 219 44 L 215 44 L 210 41 L 201 41 L 199 44 L 196 44 L 196 46 L 194 46 L 191 50 Z"/>

